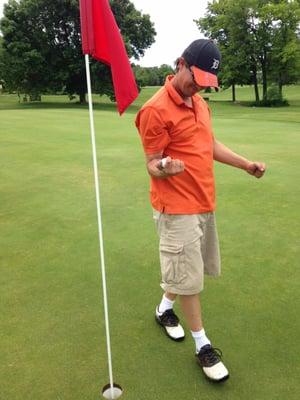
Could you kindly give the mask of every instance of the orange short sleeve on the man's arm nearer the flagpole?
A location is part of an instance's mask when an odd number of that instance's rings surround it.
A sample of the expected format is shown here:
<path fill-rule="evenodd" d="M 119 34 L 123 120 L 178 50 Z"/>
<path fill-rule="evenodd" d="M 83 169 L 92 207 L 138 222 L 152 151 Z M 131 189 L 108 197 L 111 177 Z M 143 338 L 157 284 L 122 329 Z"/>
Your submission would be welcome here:
<path fill-rule="evenodd" d="M 159 112 L 154 108 L 142 109 L 136 117 L 135 124 L 146 154 L 159 153 L 170 143 L 167 127 Z"/>

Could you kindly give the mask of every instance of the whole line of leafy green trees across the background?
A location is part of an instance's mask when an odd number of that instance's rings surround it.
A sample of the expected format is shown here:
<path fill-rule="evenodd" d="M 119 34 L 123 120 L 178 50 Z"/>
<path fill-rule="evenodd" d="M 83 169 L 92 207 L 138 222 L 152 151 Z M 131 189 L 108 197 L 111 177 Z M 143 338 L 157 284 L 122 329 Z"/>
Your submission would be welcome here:
<path fill-rule="evenodd" d="M 154 24 L 130 0 L 110 4 L 128 55 L 138 61 L 154 43 Z M 236 85 L 250 84 L 257 104 L 281 102 L 283 86 L 299 81 L 300 0 L 213 0 L 195 23 L 219 45 L 221 86 L 232 87 L 234 101 Z M 79 0 L 9 0 L 0 29 L 0 84 L 6 90 L 31 100 L 41 93 L 66 93 L 85 101 Z M 114 100 L 110 69 L 90 62 L 93 91 Z M 140 87 L 160 86 L 174 72 L 169 65 L 133 64 L 133 70 Z"/>

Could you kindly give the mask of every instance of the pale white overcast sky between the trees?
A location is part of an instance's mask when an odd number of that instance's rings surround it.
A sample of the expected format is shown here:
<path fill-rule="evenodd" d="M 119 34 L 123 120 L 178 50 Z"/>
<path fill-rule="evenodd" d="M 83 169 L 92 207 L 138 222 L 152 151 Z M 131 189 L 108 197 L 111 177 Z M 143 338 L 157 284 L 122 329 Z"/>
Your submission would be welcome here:
<path fill-rule="evenodd" d="M 150 15 L 157 32 L 155 43 L 146 50 L 145 56 L 138 62 L 140 65 L 173 65 L 189 43 L 201 37 L 193 19 L 204 15 L 208 0 L 131 1 L 137 10 Z M 0 0 L 0 16 L 6 2 Z"/>

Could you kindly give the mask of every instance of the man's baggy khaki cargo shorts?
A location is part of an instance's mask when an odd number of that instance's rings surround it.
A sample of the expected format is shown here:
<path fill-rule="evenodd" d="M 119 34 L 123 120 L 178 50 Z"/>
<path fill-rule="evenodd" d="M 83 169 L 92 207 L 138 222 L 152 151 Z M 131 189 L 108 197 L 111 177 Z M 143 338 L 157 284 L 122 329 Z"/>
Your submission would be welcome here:
<path fill-rule="evenodd" d="M 181 295 L 203 290 L 204 273 L 221 273 L 215 214 L 163 214 L 153 210 L 160 238 L 163 290 Z"/>

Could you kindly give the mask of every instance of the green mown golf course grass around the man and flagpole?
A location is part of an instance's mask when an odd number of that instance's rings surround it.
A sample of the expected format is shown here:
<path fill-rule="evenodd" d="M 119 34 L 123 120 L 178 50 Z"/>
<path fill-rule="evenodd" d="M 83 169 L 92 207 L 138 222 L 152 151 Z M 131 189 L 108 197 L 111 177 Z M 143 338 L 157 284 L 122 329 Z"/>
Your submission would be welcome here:
<path fill-rule="evenodd" d="M 202 295 L 231 379 L 207 382 L 193 341 L 169 342 L 148 176 L 134 127 L 97 102 L 95 124 L 115 380 L 128 400 L 296 400 L 299 385 L 300 93 L 290 107 L 213 94 L 216 137 L 268 165 L 256 180 L 216 165 L 223 274 Z M 240 100 L 251 100 L 241 88 Z M 217 100 L 219 96 L 223 101 Z M 227 96 L 227 97 L 225 97 Z M 108 382 L 87 108 L 0 96 L 0 387 L 3 400 L 92 400 Z M 177 308 L 179 314 L 180 310 Z"/>

